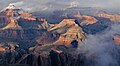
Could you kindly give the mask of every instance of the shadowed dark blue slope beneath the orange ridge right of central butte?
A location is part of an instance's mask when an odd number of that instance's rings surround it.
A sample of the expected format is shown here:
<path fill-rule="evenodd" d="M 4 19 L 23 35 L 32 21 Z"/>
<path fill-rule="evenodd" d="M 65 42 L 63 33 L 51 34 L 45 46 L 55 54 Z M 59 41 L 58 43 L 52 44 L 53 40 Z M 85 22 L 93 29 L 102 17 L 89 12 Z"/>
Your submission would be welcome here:
<path fill-rule="evenodd" d="M 95 19 L 97 19 L 97 22 L 94 24 L 81 25 L 81 27 L 85 33 L 96 34 L 96 33 L 102 32 L 103 30 L 105 30 L 109 26 L 111 26 L 111 24 L 113 24 L 113 22 L 111 20 L 106 19 L 106 18 L 95 17 Z"/>

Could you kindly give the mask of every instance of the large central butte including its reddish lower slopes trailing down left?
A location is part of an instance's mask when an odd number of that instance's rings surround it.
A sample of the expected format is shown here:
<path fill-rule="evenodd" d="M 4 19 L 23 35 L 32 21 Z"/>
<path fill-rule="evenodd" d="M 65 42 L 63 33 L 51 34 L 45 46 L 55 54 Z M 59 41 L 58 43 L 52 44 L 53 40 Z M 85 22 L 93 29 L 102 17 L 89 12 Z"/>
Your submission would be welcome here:
<path fill-rule="evenodd" d="M 59 50 L 56 50 L 55 52 L 72 52 L 73 49 L 70 49 L 72 46 L 71 42 L 76 40 L 80 44 L 85 40 L 85 38 L 86 34 L 75 22 L 75 19 L 64 19 L 59 24 L 54 25 L 48 31 L 43 32 L 40 36 L 38 36 L 36 40 L 38 44 L 29 48 L 29 50 L 33 51 L 36 55 L 49 57 L 50 52 L 59 46 Z"/>

